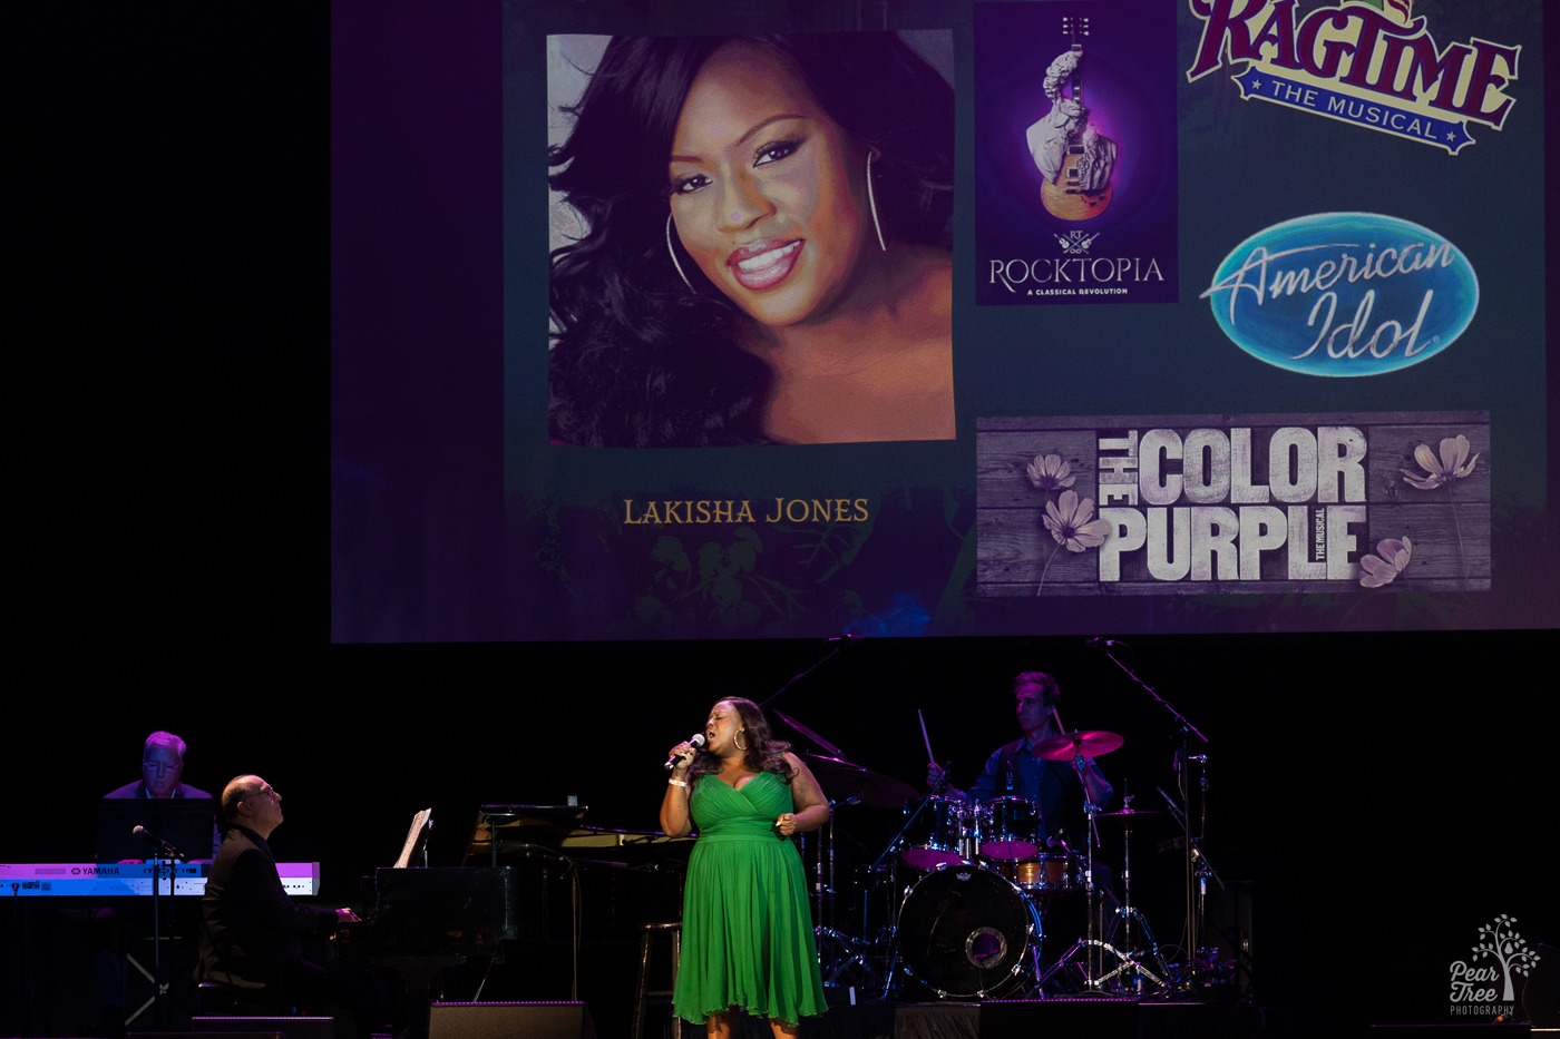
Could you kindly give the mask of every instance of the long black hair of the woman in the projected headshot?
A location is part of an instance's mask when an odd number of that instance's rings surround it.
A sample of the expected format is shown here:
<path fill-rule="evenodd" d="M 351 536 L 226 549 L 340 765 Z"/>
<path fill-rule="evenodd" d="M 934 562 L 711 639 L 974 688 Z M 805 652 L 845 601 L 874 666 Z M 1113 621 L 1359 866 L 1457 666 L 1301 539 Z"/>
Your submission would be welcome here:
<path fill-rule="evenodd" d="M 743 39 L 780 55 L 847 133 L 875 148 L 888 237 L 952 248 L 953 90 L 894 33 L 613 37 L 549 184 L 588 228 L 552 251 L 549 432 L 557 443 L 764 443 L 769 370 L 735 345 L 739 314 L 666 246 L 666 162 L 704 62 Z"/>

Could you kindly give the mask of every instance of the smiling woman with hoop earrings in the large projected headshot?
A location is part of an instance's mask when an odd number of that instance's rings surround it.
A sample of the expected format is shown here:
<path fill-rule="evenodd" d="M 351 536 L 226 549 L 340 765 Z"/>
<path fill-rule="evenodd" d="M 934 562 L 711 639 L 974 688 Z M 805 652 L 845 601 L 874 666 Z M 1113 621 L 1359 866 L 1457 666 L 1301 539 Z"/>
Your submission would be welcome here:
<path fill-rule="evenodd" d="M 613 37 L 549 148 L 549 435 L 952 440 L 953 90 L 895 33 Z"/>

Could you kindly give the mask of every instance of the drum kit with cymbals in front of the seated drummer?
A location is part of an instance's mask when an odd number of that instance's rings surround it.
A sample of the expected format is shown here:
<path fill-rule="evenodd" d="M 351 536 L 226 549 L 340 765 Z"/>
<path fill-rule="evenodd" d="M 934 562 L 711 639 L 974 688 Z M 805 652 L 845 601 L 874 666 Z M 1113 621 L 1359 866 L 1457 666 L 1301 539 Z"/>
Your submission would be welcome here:
<path fill-rule="evenodd" d="M 1109 732 L 1069 732 L 1039 757 L 1080 763 L 1122 746 Z M 1143 995 L 1173 986 L 1153 930 L 1131 897 L 1131 835 L 1164 813 L 1128 808 L 1090 819 L 1083 849 L 1045 836 L 1039 805 L 1003 796 L 972 803 L 919 794 L 842 758 L 803 755 L 833 803 L 897 808 L 902 825 L 853 874 L 850 925 L 833 913 L 835 821 L 816 841 L 817 939 L 824 981 L 883 998 Z M 839 814 L 838 810 L 835 814 Z M 1106 911 L 1092 883 L 1095 832 L 1120 839 L 1125 902 Z M 1109 899 L 1115 903 L 1115 899 Z"/>

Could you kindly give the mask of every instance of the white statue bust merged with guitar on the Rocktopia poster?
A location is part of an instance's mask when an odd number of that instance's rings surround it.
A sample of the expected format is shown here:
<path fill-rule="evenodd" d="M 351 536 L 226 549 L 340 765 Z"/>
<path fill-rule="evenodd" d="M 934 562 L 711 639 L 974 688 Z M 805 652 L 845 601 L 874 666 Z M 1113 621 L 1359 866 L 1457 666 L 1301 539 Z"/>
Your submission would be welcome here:
<path fill-rule="evenodd" d="M 1083 42 L 1087 17 L 1064 17 L 1070 47 L 1045 69 L 1044 92 L 1051 103 L 1025 137 L 1041 170 L 1041 204 L 1058 220 L 1092 220 L 1111 206 L 1115 142 L 1095 129 L 1083 100 Z M 1067 92 L 1062 92 L 1064 84 Z"/>

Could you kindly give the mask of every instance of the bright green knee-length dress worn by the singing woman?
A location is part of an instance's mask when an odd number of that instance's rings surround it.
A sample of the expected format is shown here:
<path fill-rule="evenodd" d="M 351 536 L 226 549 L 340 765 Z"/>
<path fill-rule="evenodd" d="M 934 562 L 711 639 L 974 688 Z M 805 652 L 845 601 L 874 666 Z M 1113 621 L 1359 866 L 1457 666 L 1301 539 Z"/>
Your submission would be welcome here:
<path fill-rule="evenodd" d="M 760 772 L 741 789 L 704 775 L 688 797 L 699 839 L 683 889 L 682 959 L 672 1006 L 683 1020 L 743 1006 L 799 1023 L 822 1014 L 807 871 L 775 817 L 792 811 L 791 788 Z"/>

